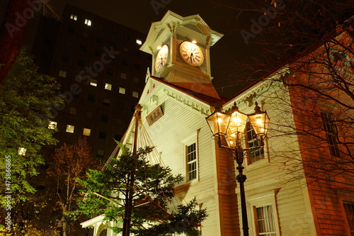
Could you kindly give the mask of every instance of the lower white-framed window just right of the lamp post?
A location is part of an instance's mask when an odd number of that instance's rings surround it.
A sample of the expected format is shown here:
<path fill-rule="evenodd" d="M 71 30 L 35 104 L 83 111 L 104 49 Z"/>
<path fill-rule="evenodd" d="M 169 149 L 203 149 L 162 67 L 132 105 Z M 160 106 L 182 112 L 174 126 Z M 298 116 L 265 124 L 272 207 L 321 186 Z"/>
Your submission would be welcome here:
<path fill-rule="evenodd" d="M 273 207 L 262 206 L 256 208 L 256 222 L 258 235 L 276 236 Z"/>

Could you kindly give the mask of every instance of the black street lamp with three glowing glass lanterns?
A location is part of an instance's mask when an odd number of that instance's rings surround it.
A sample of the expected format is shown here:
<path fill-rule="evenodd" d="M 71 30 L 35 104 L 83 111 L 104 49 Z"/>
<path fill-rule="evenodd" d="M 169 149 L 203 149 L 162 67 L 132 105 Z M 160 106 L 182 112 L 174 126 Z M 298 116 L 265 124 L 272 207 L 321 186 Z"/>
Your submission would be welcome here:
<path fill-rule="evenodd" d="M 261 111 L 257 102 L 255 104 L 254 113 L 249 115 L 241 113 L 236 103 L 234 103 L 231 113 L 223 113 L 221 108 L 215 108 L 215 111 L 205 118 L 210 130 L 212 130 L 212 135 L 217 136 L 217 144 L 219 147 L 226 149 L 238 164 L 236 169 L 239 171 L 239 174 L 236 176 L 236 180 L 239 182 L 240 186 L 242 229 L 244 236 L 249 236 L 249 222 L 247 219 L 246 198 L 244 193 L 246 175 L 243 174 L 244 167 L 242 164 L 244 163 L 244 156 L 249 155 L 251 150 L 264 147 L 264 137 L 267 135 L 269 125 L 267 112 Z M 258 147 L 241 147 L 241 138 L 246 128 L 247 120 L 251 123 L 256 137 L 259 140 Z"/>

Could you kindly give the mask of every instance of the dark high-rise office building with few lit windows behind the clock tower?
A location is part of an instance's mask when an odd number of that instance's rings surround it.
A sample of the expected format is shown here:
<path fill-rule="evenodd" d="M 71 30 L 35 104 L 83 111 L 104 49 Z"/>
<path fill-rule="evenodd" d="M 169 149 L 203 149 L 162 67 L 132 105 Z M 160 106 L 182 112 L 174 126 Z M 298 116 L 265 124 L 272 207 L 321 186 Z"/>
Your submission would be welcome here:
<path fill-rule="evenodd" d="M 67 5 L 62 21 L 42 18 L 33 54 L 58 79 L 65 102 L 52 108 L 59 145 L 86 136 L 93 156 L 107 159 L 132 118 L 151 56 L 146 35 Z"/>

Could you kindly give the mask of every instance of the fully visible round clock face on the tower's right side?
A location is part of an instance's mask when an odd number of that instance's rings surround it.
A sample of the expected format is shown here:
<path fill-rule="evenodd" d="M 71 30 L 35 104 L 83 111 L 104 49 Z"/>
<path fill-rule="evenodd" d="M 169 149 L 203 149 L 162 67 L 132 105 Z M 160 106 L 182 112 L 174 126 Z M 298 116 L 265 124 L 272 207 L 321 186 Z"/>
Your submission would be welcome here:
<path fill-rule="evenodd" d="M 183 57 L 183 60 L 188 64 L 191 64 L 195 67 L 202 64 L 204 56 L 202 55 L 202 50 L 200 47 L 190 42 L 181 43 L 180 52 Z"/>

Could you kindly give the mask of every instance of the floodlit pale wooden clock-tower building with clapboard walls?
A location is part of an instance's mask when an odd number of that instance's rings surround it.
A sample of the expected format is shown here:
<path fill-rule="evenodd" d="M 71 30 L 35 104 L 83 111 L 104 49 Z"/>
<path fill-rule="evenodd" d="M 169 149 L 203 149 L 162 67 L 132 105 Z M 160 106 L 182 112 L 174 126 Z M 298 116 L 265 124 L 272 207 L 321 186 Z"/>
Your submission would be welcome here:
<path fill-rule="evenodd" d="M 249 235 L 318 235 L 314 196 L 304 172 L 290 173 L 284 168 L 298 167 L 297 157 L 302 156 L 297 133 L 290 129 L 295 125 L 290 91 L 281 79 L 289 71 L 282 67 L 223 101 L 212 86 L 209 53 L 221 37 L 200 16 L 181 17 L 169 11 L 152 23 L 141 47 L 153 55 L 152 74 L 148 70 L 139 99 L 142 122 L 164 164 L 185 177 L 176 187 L 178 198 L 196 197 L 207 208 L 203 236 L 242 235 L 234 160 L 218 147 L 205 118 L 216 107 L 228 111 L 234 102 L 240 111 L 252 113 L 257 101 L 271 122 L 265 147 L 244 162 Z M 251 132 L 248 128 L 245 134 L 246 147 L 256 145 L 247 137 Z M 188 158 L 191 152 L 195 158 Z M 104 228 L 99 217 L 81 225 L 94 226 L 94 236 Z M 343 232 L 338 235 L 346 235 Z M 108 230 L 107 235 L 114 234 Z"/>

